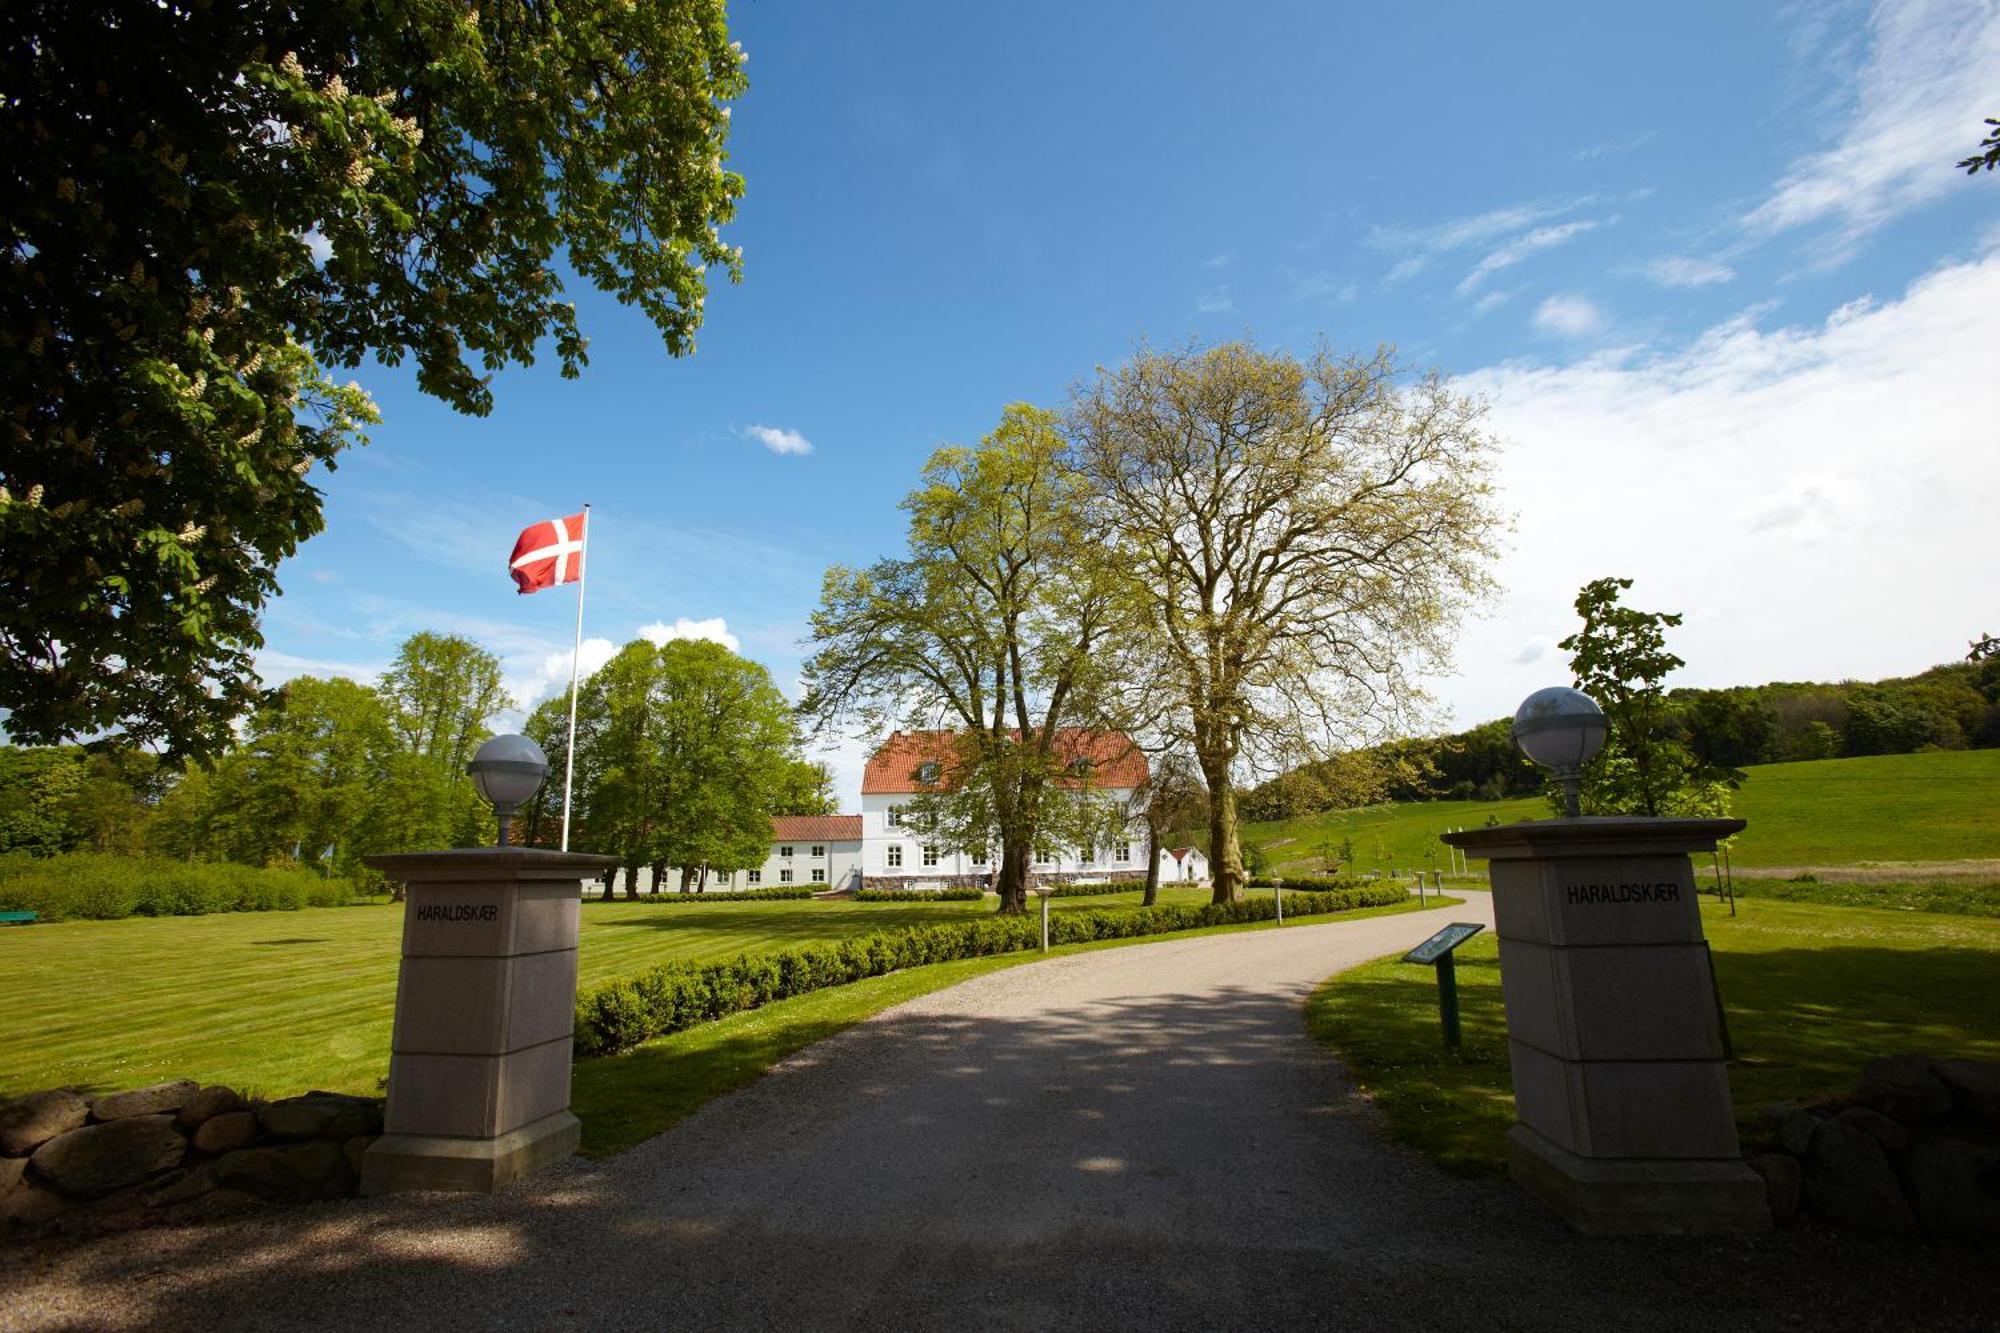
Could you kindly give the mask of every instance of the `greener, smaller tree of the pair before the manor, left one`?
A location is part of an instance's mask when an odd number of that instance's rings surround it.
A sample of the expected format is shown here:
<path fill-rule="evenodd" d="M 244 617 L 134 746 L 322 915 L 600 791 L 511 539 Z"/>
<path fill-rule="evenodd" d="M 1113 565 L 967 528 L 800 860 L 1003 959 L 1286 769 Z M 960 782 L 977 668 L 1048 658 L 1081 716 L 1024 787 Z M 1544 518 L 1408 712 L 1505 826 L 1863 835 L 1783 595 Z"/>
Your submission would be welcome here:
<path fill-rule="evenodd" d="M 812 612 L 804 717 L 948 723 L 940 783 L 908 821 L 956 847 L 1000 849 L 1002 913 L 1026 911 L 1036 847 L 1080 847 L 1108 813 L 1062 739 L 1106 695 L 1098 652 L 1120 624 L 1052 412 L 1016 402 L 978 448 L 948 446 L 904 498 L 908 554 L 826 570 Z"/>

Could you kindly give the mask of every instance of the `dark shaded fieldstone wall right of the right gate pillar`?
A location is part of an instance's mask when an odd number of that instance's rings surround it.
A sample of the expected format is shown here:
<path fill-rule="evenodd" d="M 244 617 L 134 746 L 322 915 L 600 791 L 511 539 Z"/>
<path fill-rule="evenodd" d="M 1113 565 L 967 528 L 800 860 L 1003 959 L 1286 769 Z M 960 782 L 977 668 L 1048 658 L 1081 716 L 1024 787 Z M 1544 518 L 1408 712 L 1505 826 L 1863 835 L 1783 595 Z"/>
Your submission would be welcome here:
<path fill-rule="evenodd" d="M 1890 1055 L 1852 1093 L 1764 1111 L 1750 1155 L 1778 1225 L 2000 1235 L 2000 1065 Z"/>

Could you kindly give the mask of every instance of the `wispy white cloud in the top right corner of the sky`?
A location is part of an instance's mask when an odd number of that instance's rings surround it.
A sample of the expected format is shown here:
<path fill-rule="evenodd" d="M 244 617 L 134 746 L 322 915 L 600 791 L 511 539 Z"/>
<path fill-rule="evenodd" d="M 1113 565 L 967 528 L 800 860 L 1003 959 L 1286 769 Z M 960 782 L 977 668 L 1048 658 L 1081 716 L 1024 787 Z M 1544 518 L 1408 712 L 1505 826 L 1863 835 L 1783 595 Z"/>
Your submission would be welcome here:
<path fill-rule="evenodd" d="M 1972 150 L 2000 86 L 2000 6 L 1990 0 L 1878 0 L 1852 118 L 1832 148 L 1798 158 L 1744 216 L 1752 234 L 1832 222 L 1842 244 L 1896 214 L 1964 188 L 1954 148 Z"/>

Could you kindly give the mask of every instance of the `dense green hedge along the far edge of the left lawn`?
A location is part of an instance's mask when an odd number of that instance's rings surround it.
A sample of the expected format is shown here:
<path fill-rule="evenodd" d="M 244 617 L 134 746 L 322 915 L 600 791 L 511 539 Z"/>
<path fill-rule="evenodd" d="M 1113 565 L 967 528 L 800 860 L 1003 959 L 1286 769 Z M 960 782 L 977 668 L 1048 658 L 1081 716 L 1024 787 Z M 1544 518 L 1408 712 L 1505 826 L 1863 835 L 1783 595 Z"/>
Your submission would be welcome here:
<path fill-rule="evenodd" d="M 0 863 L 0 911 L 32 911 L 44 921 L 266 913 L 354 899 L 346 879 L 228 861 L 66 853 Z"/>

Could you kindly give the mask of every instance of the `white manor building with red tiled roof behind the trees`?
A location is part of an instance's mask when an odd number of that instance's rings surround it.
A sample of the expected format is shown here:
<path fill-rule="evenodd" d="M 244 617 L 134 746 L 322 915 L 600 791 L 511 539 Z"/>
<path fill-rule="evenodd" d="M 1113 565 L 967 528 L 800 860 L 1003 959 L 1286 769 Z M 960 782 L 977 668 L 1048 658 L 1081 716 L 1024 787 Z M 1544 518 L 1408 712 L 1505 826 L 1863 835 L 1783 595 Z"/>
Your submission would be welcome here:
<path fill-rule="evenodd" d="M 828 893 L 860 887 L 944 889 L 990 885 L 998 849 L 926 843 L 902 825 L 900 809 L 938 777 L 950 733 L 892 733 L 868 759 L 860 815 L 780 815 L 772 819 L 770 855 L 762 867 L 712 875 L 710 889 L 740 891 L 804 885 Z M 1130 811 L 1122 835 L 1104 847 L 1042 847 L 1028 867 L 1030 883 L 1110 881 L 1146 877 L 1146 823 L 1134 797 L 1146 783 L 1146 755 L 1116 733 L 1064 731 L 1056 747 L 1068 765 L 1088 771 L 1094 795 Z M 1078 777 L 1078 783 L 1084 779 Z M 1160 883 L 1206 883 L 1208 859 L 1194 847 L 1160 849 Z"/>

